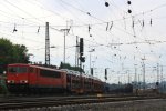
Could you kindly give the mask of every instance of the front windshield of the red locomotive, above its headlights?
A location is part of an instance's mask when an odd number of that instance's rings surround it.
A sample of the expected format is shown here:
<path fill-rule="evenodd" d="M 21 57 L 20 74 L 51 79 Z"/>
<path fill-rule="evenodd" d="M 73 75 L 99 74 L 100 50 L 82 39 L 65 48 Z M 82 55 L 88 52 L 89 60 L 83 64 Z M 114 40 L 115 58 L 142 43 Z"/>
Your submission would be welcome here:
<path fill-rule="evenodd" d="M 8 70 L 10 73 L 25 73 L 27 68 L 25 67 L 9 67 Z"/>

